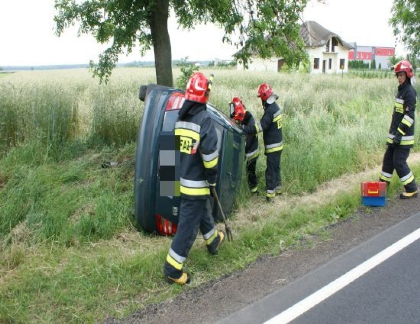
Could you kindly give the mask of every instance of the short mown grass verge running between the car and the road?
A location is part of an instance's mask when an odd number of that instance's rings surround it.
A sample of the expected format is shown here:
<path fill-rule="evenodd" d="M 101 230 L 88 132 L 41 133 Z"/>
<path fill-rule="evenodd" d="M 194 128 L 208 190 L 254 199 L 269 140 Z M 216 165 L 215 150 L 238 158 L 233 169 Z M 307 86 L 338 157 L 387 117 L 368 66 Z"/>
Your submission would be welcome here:
<path fill-rule="evenodd" d="M 194 285 L 242 269 L 260 255 L 277 255 L 324 231 L 325 225 L 345 219 L 358 204 L 354 196 L 338 197 L 317 208 L 265 215 L 269 220 L 258 220 L 252 228 L 235 228 L 234 243 L 226 243 L 215 258 L 198 240 L 186 263 Z M 141 239 L 127 243 L 122 238 L 71 247 L 14 245 L 1 260 L 7 270 L 0 288 L 0 320 L 95 323 L 176 295 L 183 288 L 168 286 L 161 274 L 170 240 L 154 241 L 156 245 L 147 250 L 140 246 Z"/>

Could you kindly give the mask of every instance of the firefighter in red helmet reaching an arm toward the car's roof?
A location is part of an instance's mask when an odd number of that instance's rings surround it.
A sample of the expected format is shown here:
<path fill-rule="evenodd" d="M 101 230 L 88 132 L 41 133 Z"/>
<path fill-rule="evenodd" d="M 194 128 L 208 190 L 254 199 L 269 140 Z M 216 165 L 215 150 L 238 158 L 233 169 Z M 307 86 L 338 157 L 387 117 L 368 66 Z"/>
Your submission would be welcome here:
<path fill-rule="evenodd" d="M 244 132 L 257 134 L 263 132 L 264 154 L 266 155 L 265 187 L 266 200 L 272 201 L 276 194 L 282 194 L 280 177 L 280 158 L 283 150 L 281 130 L 281 110 L 276 100 L 279 98 L 273 89 L 262 83 L 258 87 L 257 97 L 261 98 L 264 114 L 255 125 L 247 125 Z"/>

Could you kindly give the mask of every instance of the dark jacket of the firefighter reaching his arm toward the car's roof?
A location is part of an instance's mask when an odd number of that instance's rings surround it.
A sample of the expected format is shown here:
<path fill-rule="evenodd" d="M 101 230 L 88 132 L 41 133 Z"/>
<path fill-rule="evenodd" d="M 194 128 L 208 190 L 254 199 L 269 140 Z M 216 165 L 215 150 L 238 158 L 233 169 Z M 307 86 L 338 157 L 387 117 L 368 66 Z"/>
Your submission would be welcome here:
<path fill-rule="evenodd" d="M 263 132 L 265 154 L 278 152 L 283 149 L 283 135 L 281 132 L 281 110 L 276 102 L 264 102 L 264 114 L 254 125 L 244 126 L 246 134 Z"/>

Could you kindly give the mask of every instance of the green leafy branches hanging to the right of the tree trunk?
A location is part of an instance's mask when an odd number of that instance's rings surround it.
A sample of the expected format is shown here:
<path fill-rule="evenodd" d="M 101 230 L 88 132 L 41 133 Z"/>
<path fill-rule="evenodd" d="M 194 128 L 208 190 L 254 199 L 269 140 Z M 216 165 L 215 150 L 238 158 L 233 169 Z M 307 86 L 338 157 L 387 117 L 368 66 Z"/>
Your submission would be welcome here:
<path fill-rule="evenodd" d="M 299 35 L 300 16 L 306 4 L 306 0 L 172 1 L 183 28 L 218 24 L 225 32 L 222 41 L 238 48 L 234 58 L 244 66 L 252 56 L 281 57 L 290 66 L 307 60 Z"/>

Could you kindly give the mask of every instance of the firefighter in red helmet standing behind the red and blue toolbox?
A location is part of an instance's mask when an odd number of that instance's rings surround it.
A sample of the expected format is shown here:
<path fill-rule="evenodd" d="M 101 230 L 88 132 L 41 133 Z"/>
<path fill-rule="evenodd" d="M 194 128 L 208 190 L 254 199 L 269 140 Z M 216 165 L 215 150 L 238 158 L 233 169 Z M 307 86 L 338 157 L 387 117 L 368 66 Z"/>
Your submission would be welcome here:
<path fill-rule="evenodd" d="M 387 148 L 382 164 L 380 181 L 391 182 L 392 173 L 397 172 L 404 185 L 401 199 L 417 197 L 417 184 L 411 172 L 407 158 L 414 145 L 414 113 L 416 110 L 416 91 L 413 66 L 407 60 L 394 65 L 395 76 L 398 79 L 398 91 L 389 127 Z"/>

